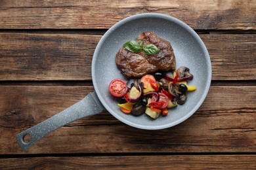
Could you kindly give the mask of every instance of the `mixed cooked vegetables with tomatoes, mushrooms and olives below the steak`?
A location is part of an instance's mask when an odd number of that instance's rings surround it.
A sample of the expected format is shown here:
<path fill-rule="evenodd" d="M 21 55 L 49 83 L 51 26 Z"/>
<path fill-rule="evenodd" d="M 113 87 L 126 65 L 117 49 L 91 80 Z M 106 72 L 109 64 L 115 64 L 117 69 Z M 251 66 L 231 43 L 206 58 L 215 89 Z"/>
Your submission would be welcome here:
<path fill-rule="evenodd" d="M 147 114 L 156 119 L 185 103 L 186 93 L 196 90 L 196 86 L 187 84 L 192 78 L 187 67 L 179 67 L 173 76 L 158 72 L 134 79 L 130 85 L 116 78 L 110 82 L 109 92 L 118 99 L 117 105 L 124 114 Z"/>

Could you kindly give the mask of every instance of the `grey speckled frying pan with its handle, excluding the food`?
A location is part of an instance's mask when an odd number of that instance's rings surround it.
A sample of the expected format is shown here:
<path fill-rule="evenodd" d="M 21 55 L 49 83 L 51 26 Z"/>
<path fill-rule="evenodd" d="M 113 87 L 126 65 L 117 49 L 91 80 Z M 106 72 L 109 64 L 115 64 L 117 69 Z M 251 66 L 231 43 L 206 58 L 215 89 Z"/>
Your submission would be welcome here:
<path fill-rule="evenodd" d="M 197 87 L 196 91 L 188 93 L 184 105 L 169 110 L 167 116 L 160 116 L 157 120 L 152 120 L 146 114 L 123 114 L 117 106 L 116 99 L 108 92 L 108 84 L 114 78 L 127 80 L 116 67 L 117 51 L 122 44 L 135 40 L 143 31 L 152 31 L 171 42 L 177 68 L 190 68 L 194 78 L 189 84 Z M 100 39 L 93 54 L 92 76 L 95 92 L 89 93 L 84 99 L 53 117 L 18 133 L 18 145 L 26 150 L 52 131 L 80 118 L 98 114 L 104 109 L 121 122 L 140 129 L 164 129 L 175 126 L 189 118 L 202 105 L 211 83 L 211 61 L 203 41 L 184 22 L 164 14 L 137 14 L 117 22 Z M 27 135 L 30 141 L 24 141 Z"/>

